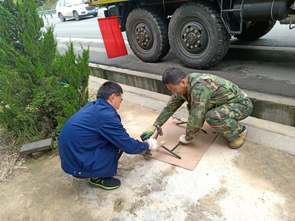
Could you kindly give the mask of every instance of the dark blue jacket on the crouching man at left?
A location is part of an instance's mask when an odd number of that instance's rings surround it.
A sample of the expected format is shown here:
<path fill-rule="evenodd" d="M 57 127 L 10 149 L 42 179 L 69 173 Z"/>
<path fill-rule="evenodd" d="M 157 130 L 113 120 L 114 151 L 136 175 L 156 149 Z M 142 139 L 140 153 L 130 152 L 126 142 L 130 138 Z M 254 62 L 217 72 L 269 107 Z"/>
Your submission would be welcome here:
<path fill-rule="evenodd" d="M 71 116 L 58 140 L 62 169 L 82 177 L 116 175 L 118 149 L 128 154 L 148 150 L 147 142 L 129 137 L 117 111 L 102 98 Z"/>

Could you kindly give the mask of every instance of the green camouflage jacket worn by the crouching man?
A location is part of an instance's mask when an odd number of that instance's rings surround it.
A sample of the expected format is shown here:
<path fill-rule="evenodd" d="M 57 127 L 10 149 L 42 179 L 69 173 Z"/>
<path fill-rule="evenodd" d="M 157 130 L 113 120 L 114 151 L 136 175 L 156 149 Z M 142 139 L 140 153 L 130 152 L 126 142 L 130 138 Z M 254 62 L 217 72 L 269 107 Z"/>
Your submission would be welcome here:
<path fill-rule="evenodd" d="M 247 95 L 231 81 L 211 74 L 188 74 L 187 93 L 174 93 L 154 126 L 162 126 L 186 101 L 189 117 L 185 139 L 192 140 L 202 129 L 207 111 L 225 103 L 240 103 L 245 97 Z"/>

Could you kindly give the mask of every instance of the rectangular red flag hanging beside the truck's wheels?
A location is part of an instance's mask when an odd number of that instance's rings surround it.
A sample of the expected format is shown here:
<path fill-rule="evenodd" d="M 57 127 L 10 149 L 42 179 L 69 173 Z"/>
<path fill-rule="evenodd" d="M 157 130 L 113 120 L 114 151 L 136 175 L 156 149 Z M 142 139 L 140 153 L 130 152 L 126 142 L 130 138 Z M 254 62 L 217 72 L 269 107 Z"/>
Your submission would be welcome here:
<path fill-rule="evenodd" d="M 116 16 L 97 19 L 108 58 L 128 55 Z"/>

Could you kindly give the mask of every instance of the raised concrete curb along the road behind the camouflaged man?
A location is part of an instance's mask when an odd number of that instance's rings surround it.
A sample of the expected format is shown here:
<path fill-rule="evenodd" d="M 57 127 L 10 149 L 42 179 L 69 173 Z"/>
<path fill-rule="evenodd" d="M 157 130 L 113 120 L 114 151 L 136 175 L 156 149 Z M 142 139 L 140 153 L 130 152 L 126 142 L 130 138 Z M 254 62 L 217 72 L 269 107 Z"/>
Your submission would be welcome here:
<path fill-rule="evenodd" d="M 171 92 L 163 85 L 161 75 L 94 63 L 89 63 L 89 67 L 90 75 L 94 77 L 171 95 Z M 245 92 L 253 102 L 252 117 L 295 127 L 295 99 L 247 90 Z"/>

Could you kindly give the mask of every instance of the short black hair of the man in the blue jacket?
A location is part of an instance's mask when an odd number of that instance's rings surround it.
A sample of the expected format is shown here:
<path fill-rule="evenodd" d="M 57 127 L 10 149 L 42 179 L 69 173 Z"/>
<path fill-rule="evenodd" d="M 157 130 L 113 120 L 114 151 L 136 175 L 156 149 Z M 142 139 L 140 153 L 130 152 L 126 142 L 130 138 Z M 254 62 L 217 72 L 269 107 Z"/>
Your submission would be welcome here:
<path fill-rule="evenodd" d="M 109 100 L 112 94 L 120 96 L 123 93 L 122 87 L 116 82 L 105 82 L 101 84 L 97 91 L 96 98 L 102 98 L 104 100 Z"/>

